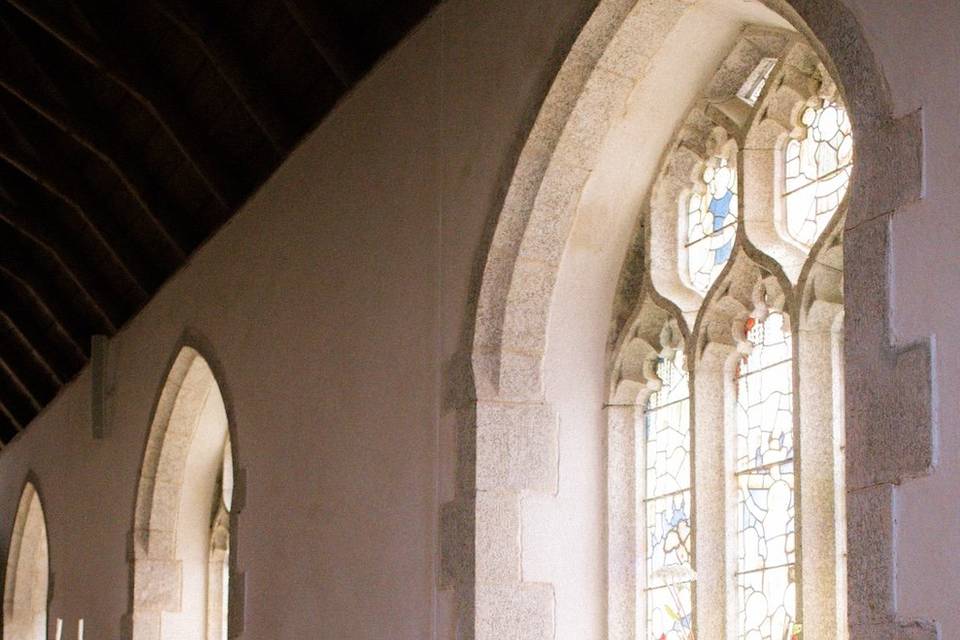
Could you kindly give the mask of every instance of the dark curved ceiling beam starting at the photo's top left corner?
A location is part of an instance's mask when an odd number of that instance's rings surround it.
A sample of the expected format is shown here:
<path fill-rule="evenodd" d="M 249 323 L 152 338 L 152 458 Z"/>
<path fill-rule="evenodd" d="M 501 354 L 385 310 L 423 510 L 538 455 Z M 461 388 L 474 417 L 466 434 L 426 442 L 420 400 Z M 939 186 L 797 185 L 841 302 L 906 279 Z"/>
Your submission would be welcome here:
<path fill-rule="evenodd" d="M 163 128 L 210 193 L 228 211 L 245 196 L 235 176 L 224 171 L 222 162 L 210 153 L 207 136 L 189 120 L 176 102 L 176 92 L 161 86 L 156 74 L 140 68 L 130 56 L 114 55 L 98 40 L 77 29 L 55 12 L 30 6 L 24 0 L 6 0 L 69 51 L 99 71 L 130 97 Z"/>

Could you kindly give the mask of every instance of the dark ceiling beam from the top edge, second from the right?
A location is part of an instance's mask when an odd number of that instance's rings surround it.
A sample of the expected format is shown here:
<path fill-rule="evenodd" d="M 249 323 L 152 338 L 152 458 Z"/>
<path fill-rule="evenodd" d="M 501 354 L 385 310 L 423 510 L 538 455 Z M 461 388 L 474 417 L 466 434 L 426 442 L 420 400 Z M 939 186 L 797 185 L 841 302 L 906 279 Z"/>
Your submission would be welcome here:
<path fill-rule="evenodd" d="M 249 62 L 237 51 L 236 34 L 230 33 L 226 20 L 213 18 L 202 9 L 203 3 L 180 0 L 154 0 L 154 6 L 183 35 L 196 44 L 243 105 L 247 114 L 270 141 L 279 160 L 296 142 L 284 110 L 273 99 L 274 92 L 255 81 Z"/>

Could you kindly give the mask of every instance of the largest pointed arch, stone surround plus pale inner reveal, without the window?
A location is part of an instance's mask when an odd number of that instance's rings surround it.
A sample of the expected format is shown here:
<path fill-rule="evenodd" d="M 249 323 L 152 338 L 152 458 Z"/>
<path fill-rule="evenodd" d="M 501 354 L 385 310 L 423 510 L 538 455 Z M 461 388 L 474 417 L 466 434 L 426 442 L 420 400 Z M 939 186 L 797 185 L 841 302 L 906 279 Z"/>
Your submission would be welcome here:
<path fill-rule="evenodd" d="M 731 18 L 733 12 L 739 13 Z M 697 21 L 705 25 L 700 31 Z M 612 307 L 615 331 L 622 326 L 629 307 L 614 299 L 614 289 L 623 257 L 633 250 L 624 238 L 633 236 L 631 223 L 660 153 L 715 71 L 709 55 L 697 64 L 689 51 L 720 47 L 722 38 L 710 40 L 711 34 L 757 21 L 795 29 L 814 47 L 840 85 L 858 145 L 844 238 L 842 365 L 851 638 L 935 637 L 931 626 L 898 618 L 894 588 L 896 485 L 927 473 L 935 451 L 929 346 L 896 345 L 888 328 L 890 220 L 921 196 L 919 114 L 893 113 L 863 32 L 838 0 L 602 0 L 530 131 L 480 289 L 474 522 L 461 528 L 473 531 L 467 573 L 477 638 L 578 637 L 587 627 L 571 615 L 572 604 L 620 579 L 578 566 L 576 553 L 562 547 L 578 527 L 581 541 L 604 535 L 602 522 L 594 529 L 583 524 L 602 521 L 602 507 L 579 513 L 556 505 L 580 488 L 570 477 L 572 457 L 582 457 L 581 471 L 603 474 L 602 447 L 594 442 L 602 436 L 588 434 L 587 446 L 577 440 L 581 423 L 602 423 L 578 414 L 564 395 L 600 387 L 583 395 L 596 403 L 593 412 L 604 401 L 603 381 L 571 380 L 606 370 L 609 357 L 608 330 L 603 340 L 580 344 L 590 340 L 581 310 Z M 671 59 L 683 64 L 671 66 Z M 631 120 L 638 110 L 643 117 Z M 646 159 L 631 154 L 638 140 L 650 153 Z M 568 347 L 570 353 L 559 353 Z M 607 560 L 612 571 L 617 559 Z M 610 611 L 618 609 L 611 604 Z M 606 605 L 593 608 L 584 615 L 606 615 Z M 596 628 L 596 620 L 591 624 Z"/>

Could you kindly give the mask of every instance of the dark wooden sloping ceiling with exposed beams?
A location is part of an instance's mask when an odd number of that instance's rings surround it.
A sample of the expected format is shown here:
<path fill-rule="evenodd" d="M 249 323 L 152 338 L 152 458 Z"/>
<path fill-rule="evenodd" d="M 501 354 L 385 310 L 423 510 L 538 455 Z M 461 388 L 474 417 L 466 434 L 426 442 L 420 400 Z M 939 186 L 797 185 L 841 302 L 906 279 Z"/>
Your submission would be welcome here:
<path fill-rule="evenodd" d="M 437 0 L 0 0 L 0 443 Z"/>

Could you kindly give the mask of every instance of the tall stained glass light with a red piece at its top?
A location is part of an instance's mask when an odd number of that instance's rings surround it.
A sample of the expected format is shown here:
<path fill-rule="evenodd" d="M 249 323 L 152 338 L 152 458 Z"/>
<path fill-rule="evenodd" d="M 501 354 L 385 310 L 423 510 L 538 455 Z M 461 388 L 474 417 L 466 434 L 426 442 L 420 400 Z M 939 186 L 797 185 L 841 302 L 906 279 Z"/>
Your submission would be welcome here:
<path fill-rule="evenodd" d="M 793 364 L 786 317 L 747 322 L 750 355 L 737 371 L 738 638 L 799 635 Z"/>

